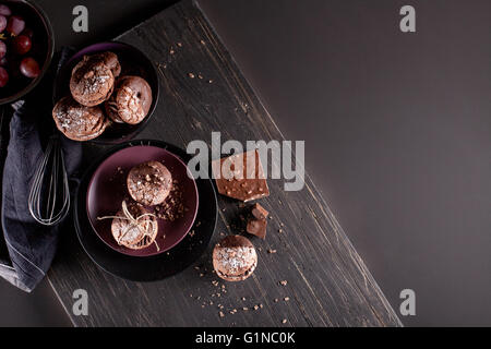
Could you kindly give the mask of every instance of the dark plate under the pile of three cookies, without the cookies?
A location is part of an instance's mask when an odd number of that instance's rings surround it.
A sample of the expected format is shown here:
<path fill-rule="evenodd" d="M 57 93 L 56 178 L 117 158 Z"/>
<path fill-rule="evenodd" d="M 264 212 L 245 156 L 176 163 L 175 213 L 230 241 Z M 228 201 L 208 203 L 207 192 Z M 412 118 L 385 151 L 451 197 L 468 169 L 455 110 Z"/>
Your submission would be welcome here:
<path fill-rule="evenodd" d="M 145 128 L 151 120 L 158 101 L 159 84 L 157 71 L 152 61 L 137 48 L 123 43 L 109 41 L 91 45 L 80 50 L 68 60 L 57 76 L 57 82 L 55 84 L 55 101 L 70 95 L 71 73 L 73 68 L 82 60 L 82 58 L 85 55 L 94 55 L 105 51 L 111 51 L 118 55 L 122 68 L 121 76 L 141 76 L 145 79 L 152 87 L 152 106 L 148 110 L 148 115 L 142 122 L 139 124 L 112 123 L 97 139 L 87 141 L 96 144 L 119 144 L 132 140 Z"/>

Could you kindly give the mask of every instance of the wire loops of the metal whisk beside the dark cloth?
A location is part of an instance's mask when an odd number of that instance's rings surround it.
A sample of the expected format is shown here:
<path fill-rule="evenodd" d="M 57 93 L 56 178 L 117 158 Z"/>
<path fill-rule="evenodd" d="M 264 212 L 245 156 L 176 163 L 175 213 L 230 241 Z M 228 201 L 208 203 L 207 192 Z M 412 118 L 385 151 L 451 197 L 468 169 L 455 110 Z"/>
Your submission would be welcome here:
<path fill-rule="evenodd" d="M 58 135 L 51 135 L 34 174 L 28 207 L 36 221 L 45 226 L 60 222 L 70 209 L 70 188 L 63 149 Z"/>

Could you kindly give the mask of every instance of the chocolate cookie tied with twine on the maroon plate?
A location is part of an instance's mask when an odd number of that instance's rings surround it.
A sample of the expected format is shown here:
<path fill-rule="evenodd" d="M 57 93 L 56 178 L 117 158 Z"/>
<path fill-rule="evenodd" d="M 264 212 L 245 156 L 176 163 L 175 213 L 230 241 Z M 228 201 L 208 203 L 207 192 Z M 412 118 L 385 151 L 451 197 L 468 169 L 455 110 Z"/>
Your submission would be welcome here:
<path fill-rule="evenodd" d="M 111 233 L 119 245 L 141 250 L 151 245 L 157 236 L 157 218 L 137 204 L 130 204 L 116 214 Z"/>

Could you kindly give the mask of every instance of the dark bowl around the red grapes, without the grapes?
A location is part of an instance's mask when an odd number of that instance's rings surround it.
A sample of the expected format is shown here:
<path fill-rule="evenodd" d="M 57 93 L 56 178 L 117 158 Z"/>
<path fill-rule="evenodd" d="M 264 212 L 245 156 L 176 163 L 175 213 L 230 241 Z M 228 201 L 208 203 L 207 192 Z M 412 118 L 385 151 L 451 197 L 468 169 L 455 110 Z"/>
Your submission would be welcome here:
<path fill-rule="evenodd" d="M 51 24 L 45 12 L 34 2 L 26 0 L 2 1 L 13 14 L 21 15 L 26 26 L 33 29 L 33 48 L 26 56 L 37 60 L 40 74 L 36 79 L 27 79 L 19 72 L 10 76 L 9 84 L 0 88 L 0 105 L 13 103 L 28 94 L 45 75 L 49 68 L 55 50 L 55 36 Z"/>

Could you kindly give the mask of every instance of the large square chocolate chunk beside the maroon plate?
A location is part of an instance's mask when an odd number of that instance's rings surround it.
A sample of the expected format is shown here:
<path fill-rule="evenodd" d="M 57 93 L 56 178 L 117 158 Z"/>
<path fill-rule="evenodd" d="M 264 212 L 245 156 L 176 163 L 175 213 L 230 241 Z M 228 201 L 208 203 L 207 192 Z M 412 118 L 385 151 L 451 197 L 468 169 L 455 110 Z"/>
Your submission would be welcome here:
<path fill-rule="evenodd" d="M 214 160 L 212 169 L 221 195 L 243 202 L 270 195 L 256 149 Z"/>

